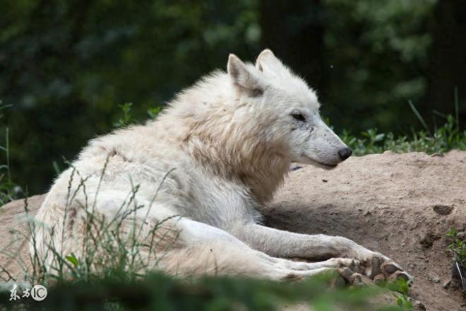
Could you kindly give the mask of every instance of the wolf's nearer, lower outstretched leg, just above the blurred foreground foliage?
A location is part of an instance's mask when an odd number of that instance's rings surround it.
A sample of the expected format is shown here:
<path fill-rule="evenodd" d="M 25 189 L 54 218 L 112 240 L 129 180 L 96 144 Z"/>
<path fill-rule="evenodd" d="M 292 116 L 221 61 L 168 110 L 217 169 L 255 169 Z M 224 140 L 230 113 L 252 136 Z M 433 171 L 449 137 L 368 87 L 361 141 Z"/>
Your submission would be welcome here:
<path fill-rule="evenodd" d="M 304 263 L 270 257 L 253 250 L 233 235 L 205 223 L 181 218 L 179 247 L 162 254 L 159 267 L 169 274 L 227 274 L 292 280 L 336 271 L 348 283 L 357 280 L 359 266 L 352 259 Z"/>

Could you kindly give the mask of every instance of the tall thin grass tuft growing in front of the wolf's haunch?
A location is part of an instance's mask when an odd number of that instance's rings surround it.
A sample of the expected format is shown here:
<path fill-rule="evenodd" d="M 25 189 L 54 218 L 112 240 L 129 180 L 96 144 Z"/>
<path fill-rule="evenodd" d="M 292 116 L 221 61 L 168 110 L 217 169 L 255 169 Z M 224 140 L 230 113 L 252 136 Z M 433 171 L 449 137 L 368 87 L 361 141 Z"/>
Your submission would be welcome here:
<path fill-rule="evenodd" d="M 163 228 L 163 224 L 170 218 L 157 223 L 151 223 L 148 220 L 152 204 L 151 206 L 137 204 L 135 198 L 139 185 L 132 185 L 125 201 L 119 206 L 117 213 L 112 218 L 106 218 L 102 213 L 97 213 L 97 196 L 102 178 L 105 175 L 107 161 L 102 169 L 97 191 L 93 198 L 88 197 L 88 193 L 86 193 L 89 191 L 85 188 L 87 177 L 81 177 L 80 172 L 71 165 L 71 177 L 66 196 L 67 204 L 64 209 L 65 217 L 60 223 L 61 226 L 54 224 L 49 227 L 27 217 L 32 247 L 35 250 L 35 256 L 30 257 L 33 263 L 32 271 L 25 271 L 31 283 L 47 283 L 51 280 L 63 282 L 68 279 L 93 281 L 102 278 L 102 276 L 108 278 L 124 276 L 124 280 L 129 281 L 148 274 L 157 265 L 157 252 L 161 250 L 159 244 L 165 240 L 165 235 L 170 233 Z M 161 184 L 165 181 L 165 177 Z M 79 182 L 78 186 L 73 188 L 73 184 L 76 184 L 73 182 L 75 178 L 78 178 Z M 85 197 L 85 201 L 76 199 L 78 192 L 81 192 Z M 158 190 L 153 201 L 156 199 L 157 193 Z M 136 213 L 143 208 L 147 209 L 144 217 L 136 216 Z M 25 213 L 28 215 L 27 204 L 25 204 Z M 73 235 L 65 232 L 70 222 L 74 223 Z M 150 228 L 145 224 L 150 224 Z M 50 236 L 49 239 L 44 239 L 47 245 L 42 251 L 46 254 L 43 258 L 37 256 L 40 253 L 36 243 L 37 229 L 44 230 Z M 78 230 L 77 233 L 76 230 Z M 68 239 L 81 245 L 79 254 L 67 253 L 65 251 L 67 247 L 63 243 L 55 245 L 56 239 L 54 237 L 56 235 L 59 235 L 61 241 Z M 147 256 L 147 254 L 153 254 L 153 257 Z"/>

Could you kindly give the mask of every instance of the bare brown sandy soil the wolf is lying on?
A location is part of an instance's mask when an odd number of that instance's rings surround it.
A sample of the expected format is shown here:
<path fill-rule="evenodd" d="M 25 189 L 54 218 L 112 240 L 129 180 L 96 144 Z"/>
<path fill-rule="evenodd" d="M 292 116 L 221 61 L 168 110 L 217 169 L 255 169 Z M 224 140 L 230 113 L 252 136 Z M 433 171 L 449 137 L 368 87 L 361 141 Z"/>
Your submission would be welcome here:
<path fill-rule="evenodd" d="M 29 199 L 32 214 L 42 199 Z M 466 310 L 458 288 L 448 284 L 445 237 L 452 226 L 466 230 L 466 152 L 386 152 L 349 158 L 333 170 L 302 166 L 263 213 L 272 227 L 342 235 L 386 254 L 414 276 L 410 296 L 426 310 Z M 27 232 L 18 222 L 22 215 L 22 201 L 0 208 L 0 250 L 12 240 L 11 228 Z M 11 252 L 28 258 L 21 241 Z M 5 254 L 0 263 L 12 274 L 20 271 Z"/>

